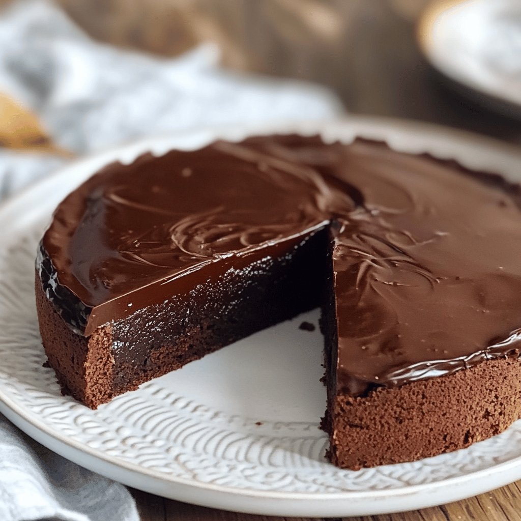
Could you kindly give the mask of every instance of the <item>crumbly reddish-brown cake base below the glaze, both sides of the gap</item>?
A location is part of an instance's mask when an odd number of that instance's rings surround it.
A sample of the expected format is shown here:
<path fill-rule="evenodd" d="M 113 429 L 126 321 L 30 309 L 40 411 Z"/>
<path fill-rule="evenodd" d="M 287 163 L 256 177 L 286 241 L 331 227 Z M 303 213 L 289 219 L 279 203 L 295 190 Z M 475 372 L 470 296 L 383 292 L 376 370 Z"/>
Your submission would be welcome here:
<path fill-rule="evenodd" d="M 218 349 L 213 344 L 179 357 L 179 346 L 163 346 L 153 351 L 146 369 L 127 368 L 128 380 L 115 386 L 110 326 L 98 328 L 90 338 L 73 333 L 47 300 L 38 278 L 36 303 L 49 364 L 64 393 L 91 408 Z M 506 358 L 400 388 L 376 388 L 358 398 L 330 390 L 322 422 L 330 438 L 328 459 L 356 470 L 415 461 L 495 436 L 521 417 L 519 381 L 521 362 Z"/>

